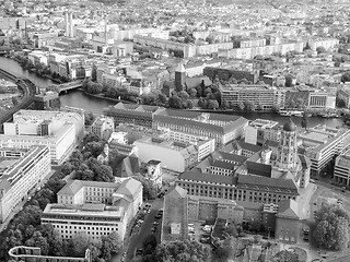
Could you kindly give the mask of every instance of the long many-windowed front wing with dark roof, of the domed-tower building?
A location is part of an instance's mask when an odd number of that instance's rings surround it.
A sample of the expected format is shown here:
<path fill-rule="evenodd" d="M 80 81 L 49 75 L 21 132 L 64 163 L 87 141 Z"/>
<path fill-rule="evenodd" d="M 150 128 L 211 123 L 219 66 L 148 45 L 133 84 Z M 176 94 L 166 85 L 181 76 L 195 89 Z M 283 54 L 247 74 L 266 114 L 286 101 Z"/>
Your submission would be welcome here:
<path fill-rule="evenodd" d="M 283 181 L 283 182 L 281 182 Z M 275 203 L 296 199 L 299 189 L 291 179 L 275 179 L 259 176 L 231 176 L 186 171 L 178 176 L 176 186 L 189 195 L 226 199 L 245 203 Z"/>

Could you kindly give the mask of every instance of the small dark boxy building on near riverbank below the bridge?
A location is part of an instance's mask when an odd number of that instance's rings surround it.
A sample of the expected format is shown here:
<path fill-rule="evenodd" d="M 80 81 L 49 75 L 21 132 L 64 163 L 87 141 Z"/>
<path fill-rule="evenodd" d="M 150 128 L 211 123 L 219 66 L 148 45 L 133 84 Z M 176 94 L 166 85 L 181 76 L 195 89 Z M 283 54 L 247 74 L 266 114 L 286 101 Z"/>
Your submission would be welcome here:
<path fill-rule="evenodd" d="M 59 110 L 60 105 L 61 103 L 57 92 L 49 91 L 34 96 L 34 110 Z"/>

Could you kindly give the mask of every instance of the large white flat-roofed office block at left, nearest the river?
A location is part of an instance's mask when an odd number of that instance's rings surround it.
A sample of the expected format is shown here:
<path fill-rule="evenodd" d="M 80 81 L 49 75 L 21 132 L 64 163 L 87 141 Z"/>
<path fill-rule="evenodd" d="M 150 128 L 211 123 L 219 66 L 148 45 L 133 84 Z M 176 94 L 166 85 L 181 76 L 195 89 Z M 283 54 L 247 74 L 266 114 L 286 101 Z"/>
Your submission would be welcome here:
<path fill-rule="evenodd" d="M 83 136 L 83 120 L 78 112 L 20 110 L 13 122 L 3 123 L 0 144 L 13 148 L 47 145 L 52 164 L 60 164 Z"/>

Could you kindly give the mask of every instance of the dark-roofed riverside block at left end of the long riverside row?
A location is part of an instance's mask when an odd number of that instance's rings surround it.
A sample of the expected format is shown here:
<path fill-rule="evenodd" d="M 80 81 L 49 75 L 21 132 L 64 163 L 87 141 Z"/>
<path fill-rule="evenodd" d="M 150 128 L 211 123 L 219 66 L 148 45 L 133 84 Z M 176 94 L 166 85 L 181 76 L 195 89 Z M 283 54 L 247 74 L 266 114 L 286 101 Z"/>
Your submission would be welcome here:
<path fill-rule="evenodd" d="M 144 127 L 152 127 L 153 115 L 162 110 L 158 106 L 133 105 L 118 103 L 115 106 L 107 107 L 103 114 L 113 117 L 115 123 L 133 123 Z"/>

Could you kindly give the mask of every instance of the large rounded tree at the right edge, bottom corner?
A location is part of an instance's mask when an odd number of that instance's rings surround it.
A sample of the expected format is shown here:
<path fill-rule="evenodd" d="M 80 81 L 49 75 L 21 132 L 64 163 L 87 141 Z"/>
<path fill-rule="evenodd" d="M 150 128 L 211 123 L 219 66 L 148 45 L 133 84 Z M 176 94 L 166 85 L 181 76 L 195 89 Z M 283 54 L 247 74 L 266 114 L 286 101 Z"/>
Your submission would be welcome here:
<path fill-rule="evenodd" d="M 323 204 L 315 221 L 314 237 L 318 245 L 332 250 L 348 247 L 350 216 L 347 211 L 339 205 Z"/>

